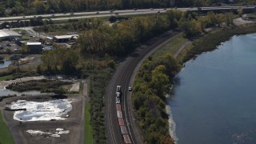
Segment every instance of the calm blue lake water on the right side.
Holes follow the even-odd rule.
[[[256,143],[256,34],[218,48],[177,75],[169,105],[178,144]]]

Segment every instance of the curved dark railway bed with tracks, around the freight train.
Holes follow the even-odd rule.
[[[138,70],[144,58],[147,58],[155,50],[169,42],[178,32],[169,31],[158,38],[154,38],[144,46],[138,47],[133,54],[130,54],[123,62],[120,63],[113,77],[110,79],[106,88],[106,133],[107,143],[123,143],[122,134],[118,126],[118,117],[115,110],[115,93],[116,86],[120,85],[122,90],[122,114],[125,124],[130,135],[130,140],[134,144],[143,143],[142,134],[136,126],[133,106],[131,104],[131,92],[128,87],[134,82],[134,74]]]

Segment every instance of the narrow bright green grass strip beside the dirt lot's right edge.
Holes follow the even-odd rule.
[[[86,144],[93,144],[93,128],[90,125],[90,102],[86,102],[85,106],[85,136],[84,136],[84,143]]]

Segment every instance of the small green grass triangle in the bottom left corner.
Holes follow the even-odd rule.
[[[2,120],[2,114],[0,112],[0,143],[1,144],[12,144],[14,139],[12,138],[6,123]]]

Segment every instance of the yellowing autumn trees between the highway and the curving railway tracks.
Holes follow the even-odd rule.
[[[190,11],[169,10],[166,14],[137,16],[116,22],[112,26],[106,25],[97,18],[74,22],[64,27],[82,30],[79,34],[78,45],[73,46],[72,50],[60,49],[44,52],[42,70],[72,74],[72,72],[77,72],[79,59],[87,57],[88,54],[103,58],[106,54],[111,57],[123,57],[130,54],[140,43],[166,30],[181,28],[186,37],[193,37],[201,34],[205,28],[210,26],[221,24],[228,26],[232,23],[232,18],[232,13],[214,14],[210,12],[205,17],[199,18],[197,14]],[[38,29],[48,30],[48,28],[42,26]],[[76,58],[74,55],[79,55],[79,57]]]

